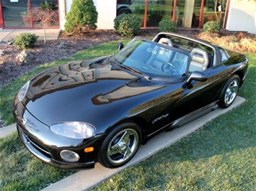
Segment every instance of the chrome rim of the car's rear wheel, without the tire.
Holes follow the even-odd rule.
[[[237,97],[238,90],[239,90],[239,81],[237,79],[234,79],[229,84],[229,87],[226,88],[226,93],[224,97],[224,102],[226,105],[229,105],[234,101],[234,99]]]

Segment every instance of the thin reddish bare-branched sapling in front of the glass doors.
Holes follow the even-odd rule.
[[[37,21],[40,24],[43,24],[43,36],[44,42],[46,42],[45,28],[50,23],[58,22],[58,11],[54,9],[42,9],[35,7],[32,11],[32,19],[33,21]]]

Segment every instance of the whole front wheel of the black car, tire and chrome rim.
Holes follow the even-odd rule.
[[[131,122],[120,124],[107,134],[100,146],[97,160],[108,168],[123,166],[133,158],[140,144],[140,127]]]

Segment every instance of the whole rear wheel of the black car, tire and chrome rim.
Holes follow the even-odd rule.
[[[237,93],[240,88],[240,78],[238,75],[232,75],[229,80],[227,80],[224,89],[221,91],[219,98],[219,106],[221,108],[228,108],[237,98]]]

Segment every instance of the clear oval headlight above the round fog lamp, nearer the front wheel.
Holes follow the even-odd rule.
[[[63,122],[53,124],[50,126],[50,130],[71,139],[87,139],[94,136],[96,128],[91,124],[82,122]]]

